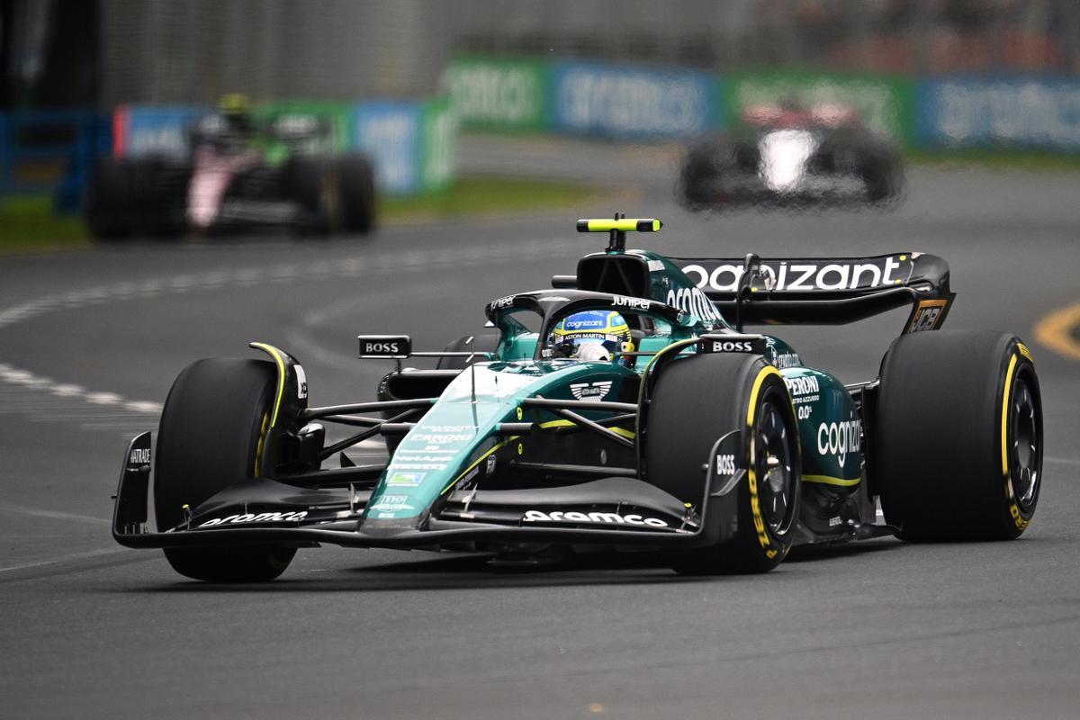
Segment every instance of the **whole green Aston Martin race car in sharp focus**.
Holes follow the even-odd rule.
[[[359,336],[365,362],[396,364],[376,400],[310,407],[300,363],[259,342],[268,359],[187,367],[153,457],[149,432],[126,450],[116,540],[164,548],[190,578],[265,581],[321,543],[649,549],[728,573],[771,570],[796,545],[1028,527],[1043,437],[1031,353],[940,329],[955,298],[941,258],[676,259],[625,248],[658,220],[578,229],[608,247],[551,289],[489,302],[488,327],[445,351]],[[743,327],[904,307],[880,375],[853,384]],[[438,366],[401,367],[410,357]],[[386,462],[349,457],[369,438]]]

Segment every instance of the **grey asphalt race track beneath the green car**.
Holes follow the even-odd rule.
[[[637,202],[370,239],[0,259],[0,717],[1080,715],[1080,365],[1032,329],[1080,299],[1080,176],[914,169],[893,210],[692,216],[656,153],[609,174],[605,158],[626,151],[476,145],[469,166],[556,153],[565,174],[613,177]],[[1048,438],[1027,533],[804,551],[768,575],[719,579],[636,556],[522,574],[327,547],[256,587],[188,582],[159,553],[113,544],[125,440],[156,430],[190,361],[265,340],[303,362],[313,404],[369,398],[387,368],[353,358],[357,332],[442,348],[481,326],[487,300],[572,272],[604,241],[573,220],[616,209],[662,218],[632,244],[675,256],[948,259],[949,327],[1015,331],[1035,353]],[[902,322],[784,335],[856,380]]]

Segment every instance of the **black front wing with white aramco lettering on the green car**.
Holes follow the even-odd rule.
[[[738,461],[730,467],[715,459],[740,458],[741,441],[739,431],[729,433],[716,441],[708,458],[702,459],[702,499],[690,507],[642,479],[607,477],[532,490],[457,490],[416,526],[405,527],[364,519],[363,510],[370,492],[350,490],[337,505],[315,502],[302,506],[296,504],[299,493],[285,484],[287,479],[256,479],[238,481],[204,503],[217,508],[243,507],[246,512],[248,501],[244,498],[251,499],[252,490],[262,487],[262,495],[257,498],[260,514],[240,516],[251,516],[254,521],[245,520],[241,527],[229,521],[207,522],[202,521],[203,514],[203,518],[177,528],[150,532],[147,500],[151,437],[147,432],[131,441],[124,458],[112,536],[126,547],[330,543],[347,547],[431,548],[468,542],[699,547],[734,534],[737,488],[746,470],[738,466]],[[719,472],[721,467],[724,472]],[[271,493],[275,488],[284,490],[278,493],[276,504],[267,502],[266,488]],[[268,508],[274,512],[262,512]],[[267,520],[260,522],[259,517]]]

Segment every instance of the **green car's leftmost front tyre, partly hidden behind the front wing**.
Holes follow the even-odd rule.
[[[173,383],[158,431],[153,505],[158,530],[245,477],[257,477],[257,459],[276,390],[276,371],[265,361],[210,358],[189,365]],[[166,548],[181,575],[211,582],[273,580],[295,547],[228,545]]]

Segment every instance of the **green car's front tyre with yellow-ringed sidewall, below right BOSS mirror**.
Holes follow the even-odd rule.
[[[792,400],[780,372],[760,357],[701,355],[663,368],[649,406],[645,462],[650,483],[698,505],[713,445],[743,430],[746,478],[735,535],[679,552],[684,574],[760,573],[787,555],[798,517],[800,465]]]

